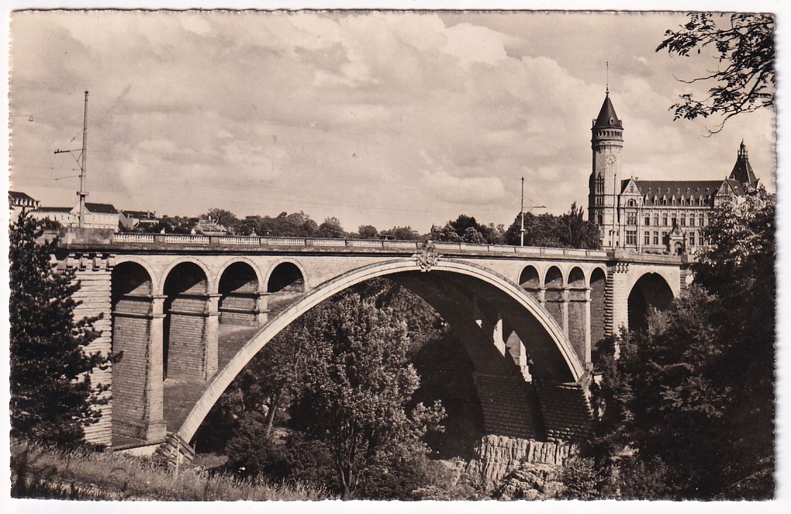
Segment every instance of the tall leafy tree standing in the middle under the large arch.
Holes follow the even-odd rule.
[[[391,467],[427,452],[421,438],[439,429],[441,404],[407,405],[419,378],[410,364],[407,326],[388,308],[357,296],[305,315],[313,358],[302,408],[311,437],[331,448],[344,498],[374,467]]]

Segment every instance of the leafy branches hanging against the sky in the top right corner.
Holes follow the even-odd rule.
[[[670,108],[674,119],[708,118],[721,115],[725,122],[742,112],[774,106],[774,15],[770,13],[690,13],[688,21],[677,30],[665,32],[666,39],[657,51],[669,54],[698,54],[706,47],[714,49],[720,66],[702,77],[682,80],[711,85],[709,96],[696,100],[691,93],[680,96],[681,102]]]

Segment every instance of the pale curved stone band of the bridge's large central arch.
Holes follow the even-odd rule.
[[[210,381],[206,390],[201,395],[190,414],[184,420],[177,434],[182,440],[191,440],[206,417],[209,410],[218,400],[225,388],[233,381],[234,377],[244,369],[244,366],[259,352],[278,332],[285,329],[299,316],[322,301],[340,293],[344,289],[365,282],[372,278],[392,274],[420,275],[425,271],[415,259],[394,259],[383,263],[376,263],[352,270],[330,281],[317,285],[300,300],[290,305],[277,317],[267,323],[239,352],[221,369]],[[569,339],[562,328],[552,316],[520,285],[509,281],[491,270],[482,266],[465,263],[455,259],[439,259],[433,263],[429,272],[432,280],[441,280],[447,277],[456,282],[466,281],[466,285],[476,284],[479,291],[485,291],[490,300],[508,300],[506,310],[511,319],[521,319],[521,323],[538,327],[534,344],[528,349],[539,368],[554,373],[557,381],[579,382],[585,374],[585,366],[577,357]],[[427,275],[423,275],[428,277]],[[408,282],[408,281],[407,281]],[[526,344],[528,344],[526,342]]]

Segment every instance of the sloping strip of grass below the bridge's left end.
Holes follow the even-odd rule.
[[[71,500],[313,501],[335,499],[305,484],[244,480],[112,452],[64,452],[11,440],[11,496]]]

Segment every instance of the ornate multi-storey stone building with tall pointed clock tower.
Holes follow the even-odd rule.
[[[623,178],[623,122],[610,95],[593,120],[588,216],[600,229],[602,248],[648,253],[694,253],[706,244],[702,228],[715,206],[756,187],[744,142],[724,180]]]

